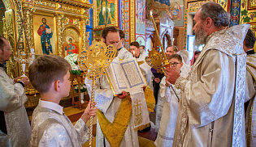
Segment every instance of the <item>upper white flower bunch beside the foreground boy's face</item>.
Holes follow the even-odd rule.
[[[77,74],[77,75],[81,75],[80,69],[77,66],[77,57],[78,54],[77,53],[73,53],[73,54],[69,54],[66,57],[64,57],[64,59],[66,59],[68,61],[68,63],[72,66],[72,74]]]

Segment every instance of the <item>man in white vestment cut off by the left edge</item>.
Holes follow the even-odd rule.
[[[11,79],[4,69],[9,61],[11,46],[0,37],[0,146],[24,147],[30,145],[30,124],[24,103],[28,100],[24,86],[28,78]]]

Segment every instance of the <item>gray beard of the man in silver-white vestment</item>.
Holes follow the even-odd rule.
[[[195,32],[195,40],[194,46],[198,48],[202,44],[206,44],[207,34],[203,30],[203,23],[201,23],[200,27],[198,27],[197,31]]]

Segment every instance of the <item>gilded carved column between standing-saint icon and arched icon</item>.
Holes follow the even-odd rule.
[[[60,14],[56,15],[57,18],[57,38],[58,38],[58,53],[57,55],[63,57],[63,16]]]

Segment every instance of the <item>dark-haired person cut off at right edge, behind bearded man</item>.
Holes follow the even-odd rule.
[[[247,146],[256,146],[256,53],[254,31],[248,30],[244,40],[246,57],[245,81],[245,131]]]

